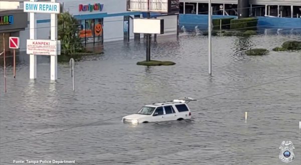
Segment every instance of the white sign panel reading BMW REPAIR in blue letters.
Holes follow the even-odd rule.
[[[24,1],[24,12],[60,13],[60,3]]]

